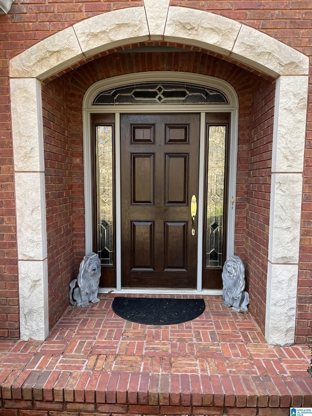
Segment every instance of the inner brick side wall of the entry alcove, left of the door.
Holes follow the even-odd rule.
[[[42,86],[50,328],[68,306],[74,277],[69,76]]]

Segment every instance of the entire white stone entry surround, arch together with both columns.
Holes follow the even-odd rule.
[[[145,0],[144,6],[83,20],[10,61],[21,338],[44,339],[49,331],[40,80],[94,54],[146,40],[201,47],[276,79],[266,338],[273,344],[290,344],[295,328],[295,308],[289,304],[296,304],[309,59],[249,26],[206,11],[172,7],[169,0]],[[291,139],[284,134],[286,127],[293,132]],[[292,241],[291,256],[287,241]]]

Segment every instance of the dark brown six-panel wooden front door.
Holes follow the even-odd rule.
[[[122,287],[196,287],[190,203],[198,200],[199,121],[121,115]]]

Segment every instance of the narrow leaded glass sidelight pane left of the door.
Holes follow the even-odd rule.
[[[102,266],[114,264],[113,129],[96,126],[98,257]]]

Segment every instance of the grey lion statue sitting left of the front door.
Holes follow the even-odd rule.
[[[88,306],[89,302],[99,302],[98,284],[100,276],[101,265],[98,255],[89,253],[84,256],[80,263],[77,279],[73,279],[69,283],[70,303],[76,306]]]

